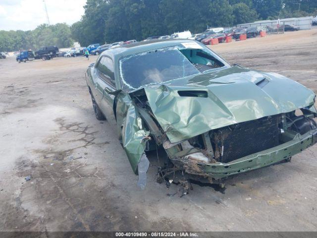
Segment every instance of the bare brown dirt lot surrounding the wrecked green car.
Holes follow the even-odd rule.
[[[317,91],[317,28],[212,46],[231,63],[280,72]],[[82,57],[0,60],[0,231],[317,231],[317,146],[173,194],[136,186],[114,128],[95,119]],[[31,175],[31,180],[25,178]]]

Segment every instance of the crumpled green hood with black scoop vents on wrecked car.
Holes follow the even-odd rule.
[[[203,97],[179,91],[206,91]],[[312,106],[315,94],[276,73],[233,66],[145,88],[169,140],[178,142],[238,122]]]

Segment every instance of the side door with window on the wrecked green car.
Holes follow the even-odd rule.
[[[116,90],[114,80],[113,61],[108,56],[101,56],[96,65],[97,81],[95,83],[96,92],[99,94],[97,104],[101,108],[108,122],[112,125],[116,123],[113,113],[115,96],[110,94]]]

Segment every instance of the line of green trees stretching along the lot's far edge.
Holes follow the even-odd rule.
[[[33,31],[0,31],[0,51],[71,47],[209,27],[234,26],[255,20],[317,14],[317,0],[87,0],[81,20],[40,25]]]

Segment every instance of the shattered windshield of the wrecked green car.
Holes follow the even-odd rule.
[[[119,60],[122,90],[133,91],[149,84],[184,78],[226,64],[197,43],[188,43],[196,44],[196,49],[188,49],[184,44],[142,52]]]

